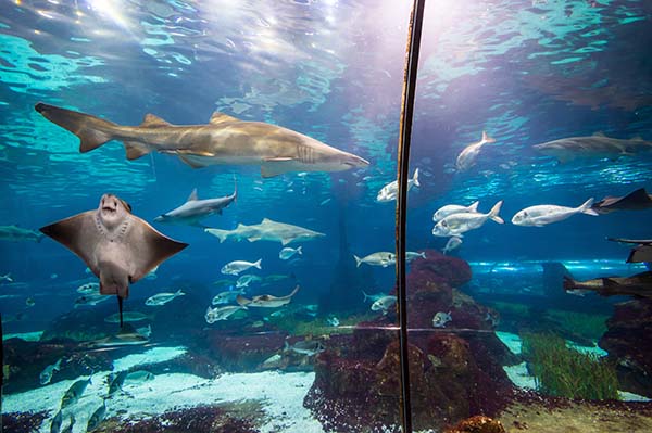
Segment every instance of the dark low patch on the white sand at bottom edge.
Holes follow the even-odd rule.
[[[145,420],[111,418],[96,433],[258,433],[255,411],[234,411],[224,406],[199,406],[168,411]]]

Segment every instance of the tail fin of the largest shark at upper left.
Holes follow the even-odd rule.
[[[118,125],[86,113],[60,109],[42,102],[34,105],[45,118],[79,137],[79,152],[92,151],[113,140],[113,131]]]

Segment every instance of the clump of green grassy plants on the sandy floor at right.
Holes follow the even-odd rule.
[[[523,354],[542,393],[567,398],[618,398],[613,362],[569,348],[564,339],[551,333],[524,333],[522,339]]]

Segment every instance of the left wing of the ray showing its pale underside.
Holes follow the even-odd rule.
[[[102,234],[95,224],[96,213],[97,211],[84,212],[41,227],[39,230],[65,245],[79,256],[96,276],[99,276],[100,270],[95,252],[102,241]]]

